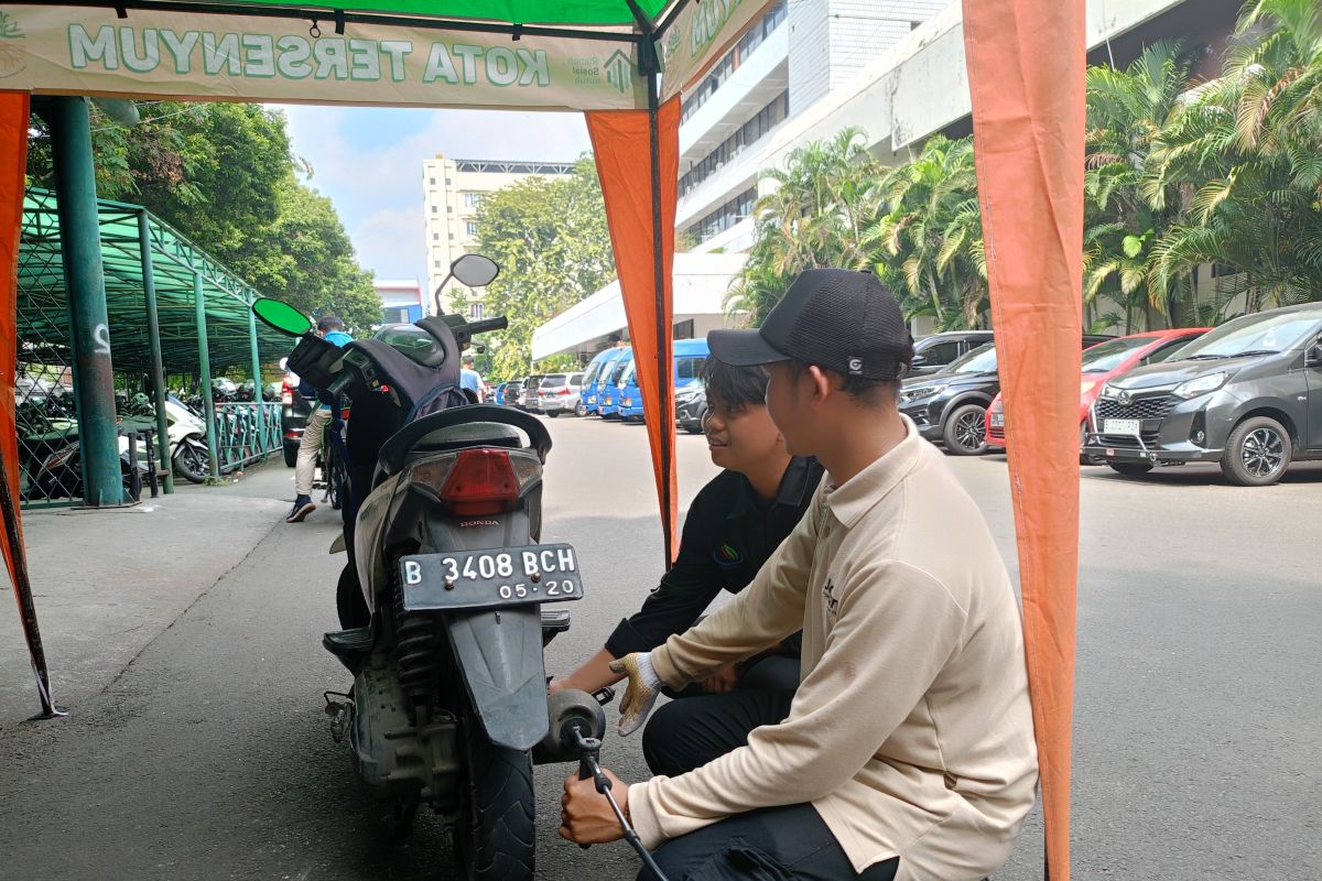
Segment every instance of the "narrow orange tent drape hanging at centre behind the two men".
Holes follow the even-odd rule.
[[[669,567],[678,552],[672,276],[680,99],[672,98],[648,111],[590,112],[587,128],[633,342]]]

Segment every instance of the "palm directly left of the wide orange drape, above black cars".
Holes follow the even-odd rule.
[[[873,264],[907,317],[977,328],[989,309],[973,139],[929,139],[880,180],[890,210],[867,231]]]

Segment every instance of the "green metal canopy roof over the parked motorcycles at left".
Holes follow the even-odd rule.
[[[260,295],[145,209],[107,199],[98,199],[97,207],[115,371],[151,371],[139,240],[143,214],[147,215],[165,372],[198,372],[194,273],[202,280],[213,374],[235,366],[250,367],[249,310]],[[19,341],[24,346],[20,359],[41,361],[44,353],[49,353],[50,361],[69,363],[69,300],[56,211],[54,193],[26,192],[19,246]],[[258,322],[258,347],[262,363],[271,363],[290,353],[292,341]]]

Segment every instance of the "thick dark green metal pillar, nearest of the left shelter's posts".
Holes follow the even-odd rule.
[[[86,98],[53,98],[46,104],[59,195],[59,240],[69,291],[69,343],[73,350],[82,452],[83,505],[122,505],[115,376],[110,361],[110,318],[97,217],[97,177]]]

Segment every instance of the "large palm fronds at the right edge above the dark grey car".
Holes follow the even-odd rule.
[[[1145,194],[1192,193],[1153,248],[1165,288],[1204,263],[1236,269],[1202,320],[1322,296],[1322,12],[1317,0],[1244,7],[1223,75],[1154,139]]]

